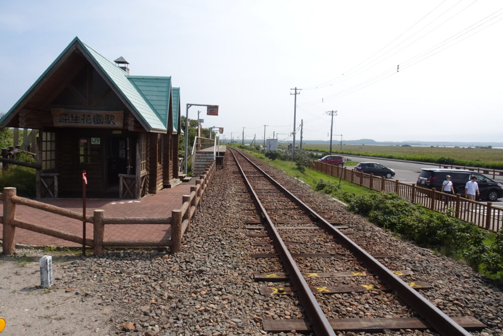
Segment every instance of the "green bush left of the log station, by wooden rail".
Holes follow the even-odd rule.
[[[16,187],[23,197],[35,197],[35,169],[9,165],[9,171],[0,173],[0,190]]]

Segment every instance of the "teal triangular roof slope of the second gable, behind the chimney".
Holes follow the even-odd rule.
[[[171,77],[127,76],[167,129]]]

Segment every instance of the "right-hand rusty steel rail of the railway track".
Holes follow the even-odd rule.
[[[423,295],[418,293],[412,287],[407,285],[403,280],[397,277],[393,272],[391,272],[386,266],[381,262],[376,260],[367,251],[361,248],[359,245],[355,244],[351,239],[349,239],[344,233],[336,229],[328,223],[324,218],[318,215],[314,210],[309,208],[294,194],[288,191],[279,182],[269,176],[264,170],[262,170],[255,163],[251,162],[246,156],[241,152],[241,154],[251,165],[253,165],[257,170],[262,172],[264,176],[269,179],[274,185],[281,189],[288,197],[290,197],[295,203],[302,207],[305,211],[308,211],[312,216],[318,220],[318,224],[329,234],[331,234],[341,245],[346,247],[350,252],[352,252],[357,259],[365,264],[374,274],[376,274],[382,282],[396,291],[398,297],[400,297],[409,307],[411,307],[415,312],[417,312],[429,325],[431,325],[437,332],[445,336],[470,336],[471,333],[466,331],[462,326],[456,323],[452,318],[447,316],[443,311],[438,309],[430,301],[428,301]]]

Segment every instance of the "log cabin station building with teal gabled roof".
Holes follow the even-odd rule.
[[[37,197],[140,198],[179,183],[180,88],[75,37],[0,120],[39,130]],[[50,192],[49,192],[50,191]]]

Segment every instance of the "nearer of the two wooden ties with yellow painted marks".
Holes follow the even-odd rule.
[[[433,286],[424,281],[412,281],[407,283],[411,288],[418,289],[432,289]],[[391,288],[384,284],[379,285],[371,285],[371,284],[363,284],[363,285],[339,285],[339,286],[309,286],[313,293],[318,294],[337,294],[337,293],[361,293],[366,291],[371,291],[374,289],[381,290],[383,292],[391,291]],[[282,294],[290,294],[293,292],[292,287],[261,287],[259,288],[259,292],[261,295],[282,295]]]

